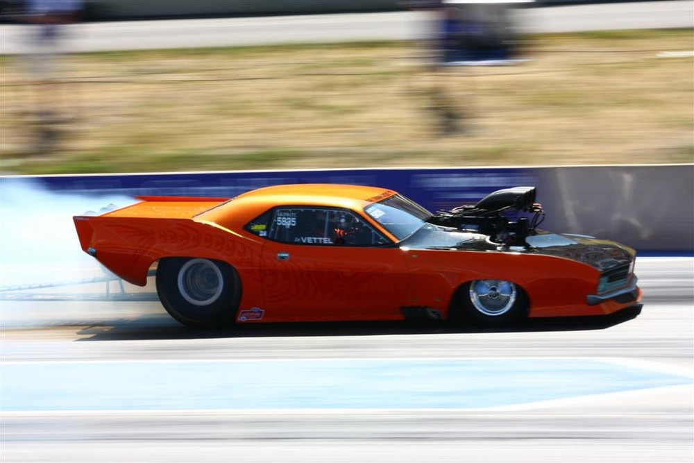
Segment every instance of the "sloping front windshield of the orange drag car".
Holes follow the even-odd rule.
[[[391,196],[364,209],[369,217],[402,241],[419,230],[432,217],[431,212],[405,196]]]

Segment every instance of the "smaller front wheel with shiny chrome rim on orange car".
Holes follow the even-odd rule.
[[[523,288],[505,280],[474,280],[458,290],[451,319],[509,324],[527,316],[530,304]]]

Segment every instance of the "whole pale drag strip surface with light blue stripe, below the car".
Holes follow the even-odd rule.
[[[691,462],[694,260],[637,271],[640,313],[508,330],[5,298],[0,461]]]

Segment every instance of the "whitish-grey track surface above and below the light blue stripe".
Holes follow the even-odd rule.
[[[96,328],[96,327],[95,327]],[[371,336],[284,335],[208,339],[141,339],[137,330],[87,337],[62,327],[57,338],[3,336],[3,355],[28,360],[310,359],[470,357],[544,360],[582,355],[634,369],[691,376],[692,311],[652,305],[607,329],[538,332],[461,332]],[[113,328],[118,331],[119,328]],[[7,334],[7,332],[5,333]],[[141,332],[139,333],[142,334]],[[169,333],[170,334],[170,333]],[[84,339],[72,342],[71,339]],[[12,341],[14,339],[14,341]],[[68,342],[66,342],[68,340]],[[10,347],[8,349],[8,346]],[[96,370],[91,372],[96,375]],[[276,378],[281,389],[288,378]],[[176,376],[162,378],[176,381]],[[232,380],[233,378],[230,378]],[[422,380],[423,378],[413,378]],[[513,378],[503,386],[513,389]],[[75,390],[92,381],[87,365]],[[470,378],[473,387],[474,378]],[[244,378],[232,382],[244,387]],[[407,382],[407,381],[405,381]],[[489,387],[489,384],[484,383]],[[480,384],[481,385],[481,384]],[[497,385],[498,386],[498,385]],[[162,387],[183,405],[193,396]],[[309,387],[310,389],[310,387]],[[574,396],[502,410],[112,410],[5,412],[3,461],[8,462],[689,462],[692,387],[645,388]],[[99,391],[96,391],[98,394]],[[203,390],[201,389],[201,393]],[[169,395],[171,394],[171,395]],[[208,399],[210,399],[208,397]],[[102,400],[108,401],[104,395]],[[220,404],[221,405],[221,404]]]

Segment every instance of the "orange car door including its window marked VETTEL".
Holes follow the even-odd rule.
[[[266,319],[399,319],[403,252],[356,212],[273,210],[261,257]]]

